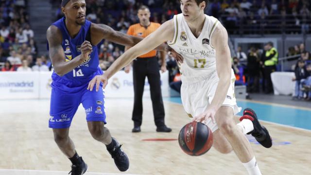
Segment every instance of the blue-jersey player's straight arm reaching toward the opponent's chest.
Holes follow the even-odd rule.
[[[140,42],[143,38],[138,36],[132,36],[123,34],[122,32],[115,31],[111,27],[104,24],[94,24],[91,26],[91,34],[92,34],[92,43],[93,45],[97,45],[101,40],[107,39],[111,42],[121,44],[123,46],[135,46],[138,42]],[[155,48],[157,51],[164,51],[165,44],[160,43]]]

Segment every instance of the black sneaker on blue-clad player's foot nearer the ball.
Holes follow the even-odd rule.
[[[124,172],[130,166],[127,155],[121,149],[121,146],[115,138],[112,138],[114,142],[114,147],[111,150],[108,150],[111,157],[114,159],[116,166],[121,172]]]

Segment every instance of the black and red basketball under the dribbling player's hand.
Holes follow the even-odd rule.
[[[213,134],[206,124],[191,122],[181,128],[178,135],[178,143],[186,154],[201,156],[211,148]]]

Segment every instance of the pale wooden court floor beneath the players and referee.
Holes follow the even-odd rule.
[[[48,128],[49,100],[0,101],[0,175],[66,175],[70,162],[58,149]],[[132,99],[106,99],[106,127],[130,158],[123,174],[135,175],[247,175],[232,152],[222,155],[215,149],[200,157],[184,154],[174,141],[180,128],[189,122],[182,105],[164,102],[166,123],[172,133],[155,132],[151,100],[144,99],[141,133],[132,133]],[[264,123],[264,122],[263,122]],[[251,145],[263,175],[310,175],[311,131],[264,123],[274,139],[266,149],[252,137]],[[87,130],[85,112],[79,107],[70,137],[88,164],[86,175],[121,174],[104,145]],[[24,171],[34,170],[34,171]],[[40,170],[40,171],[39,171]]]

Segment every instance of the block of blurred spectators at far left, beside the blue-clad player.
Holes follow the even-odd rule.
[[[1,71],[49,71],[51,62],[38,56],[29,25],[27,0],[0,0]]]

